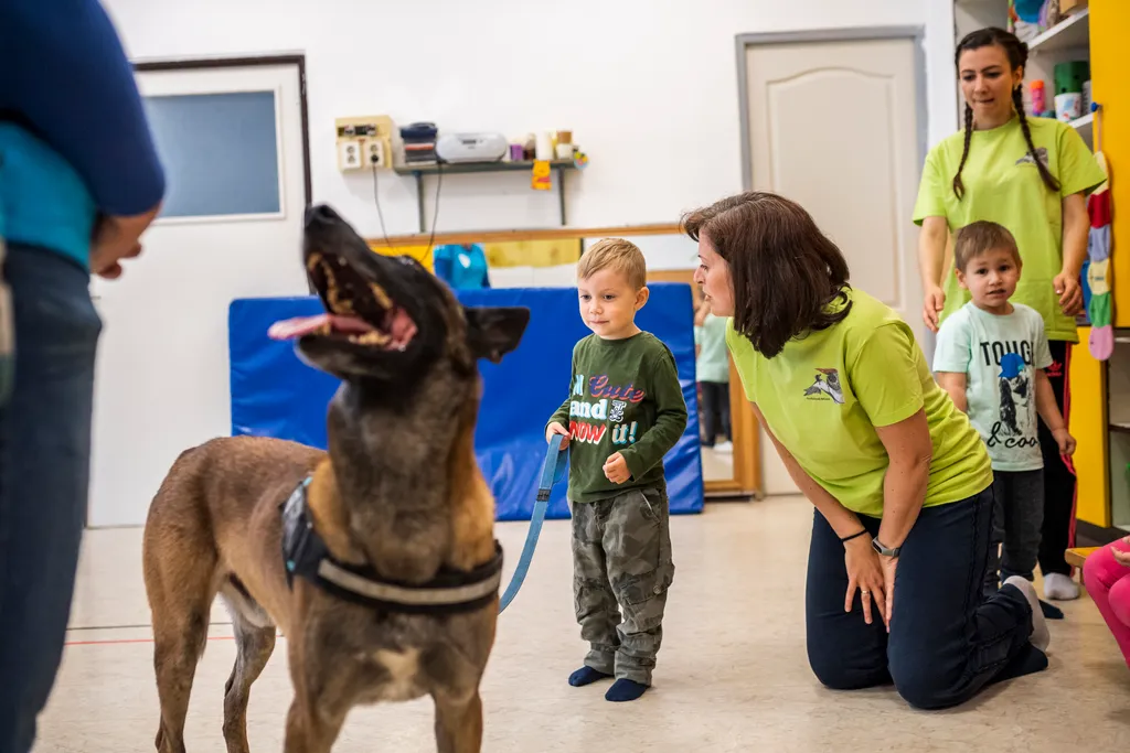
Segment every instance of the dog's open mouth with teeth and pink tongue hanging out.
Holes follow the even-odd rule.
[[[325,313],[276,322],[268,331],[273,340],[314,335],[402,351],[416,336],[416,323],[408,312],[344,257],[311,254],[306,269]]]

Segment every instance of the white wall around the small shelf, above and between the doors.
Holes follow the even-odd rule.
[[[314,199],[368,236],[381,233],[372,177],[337,170],[334,117],[508,137],[570,129],[591,158],[570,176],[574,226],[675,221],[740,190],[741,33],[925,26],[930,142],[956,124],[949,0],[104,2],[136,60],[304,52]],[[380,191],[388,233],[416,231],[414,181],[382,172]],[[429,178],[429,224],[434,191]],[[441,231],[557,221],[556,193],[523,175],[444,178]]]

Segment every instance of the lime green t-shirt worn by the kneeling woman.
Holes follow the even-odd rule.
[[[847,316],[796,338],[774,358],[727,327],[746,396],[800,466],[861,515],[883,516],[889,465],[875,427],[925,409],[933,443],[925,506],[973,497],[992,483],[981,436],[933,380],[910,326],[886,305],[850,291]]]

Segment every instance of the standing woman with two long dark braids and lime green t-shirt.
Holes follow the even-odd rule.
[[[1086,195],[1105,180],[1079,134],[1067,123],[1024,113],[1028,47],[999,28],[965,36],[955,54],[965,98],[965,129],[930,150],[914,222],[922,226],[919,263],[925,301],[922,317],[938,331],[942,318],[968,301],[946,259],[950,233],[992,220],[1016,237],[1024,274],[1012,297],[1040,312],[1051,345],[1048,376],[1067,417],[1075,315],[1083,310],[1079,273],[1087,259]],[[1079,588],[1063,559],[1075,515],[1075,474],[1041,422],[1044,522],[1040,569],[1048,598],[1070,599]]]

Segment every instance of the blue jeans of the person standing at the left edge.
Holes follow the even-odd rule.
[[[0,408],[0,751],[27,753],[62,657],[90,464],[102,322],[89,274],[9,245],[15,384]]]

